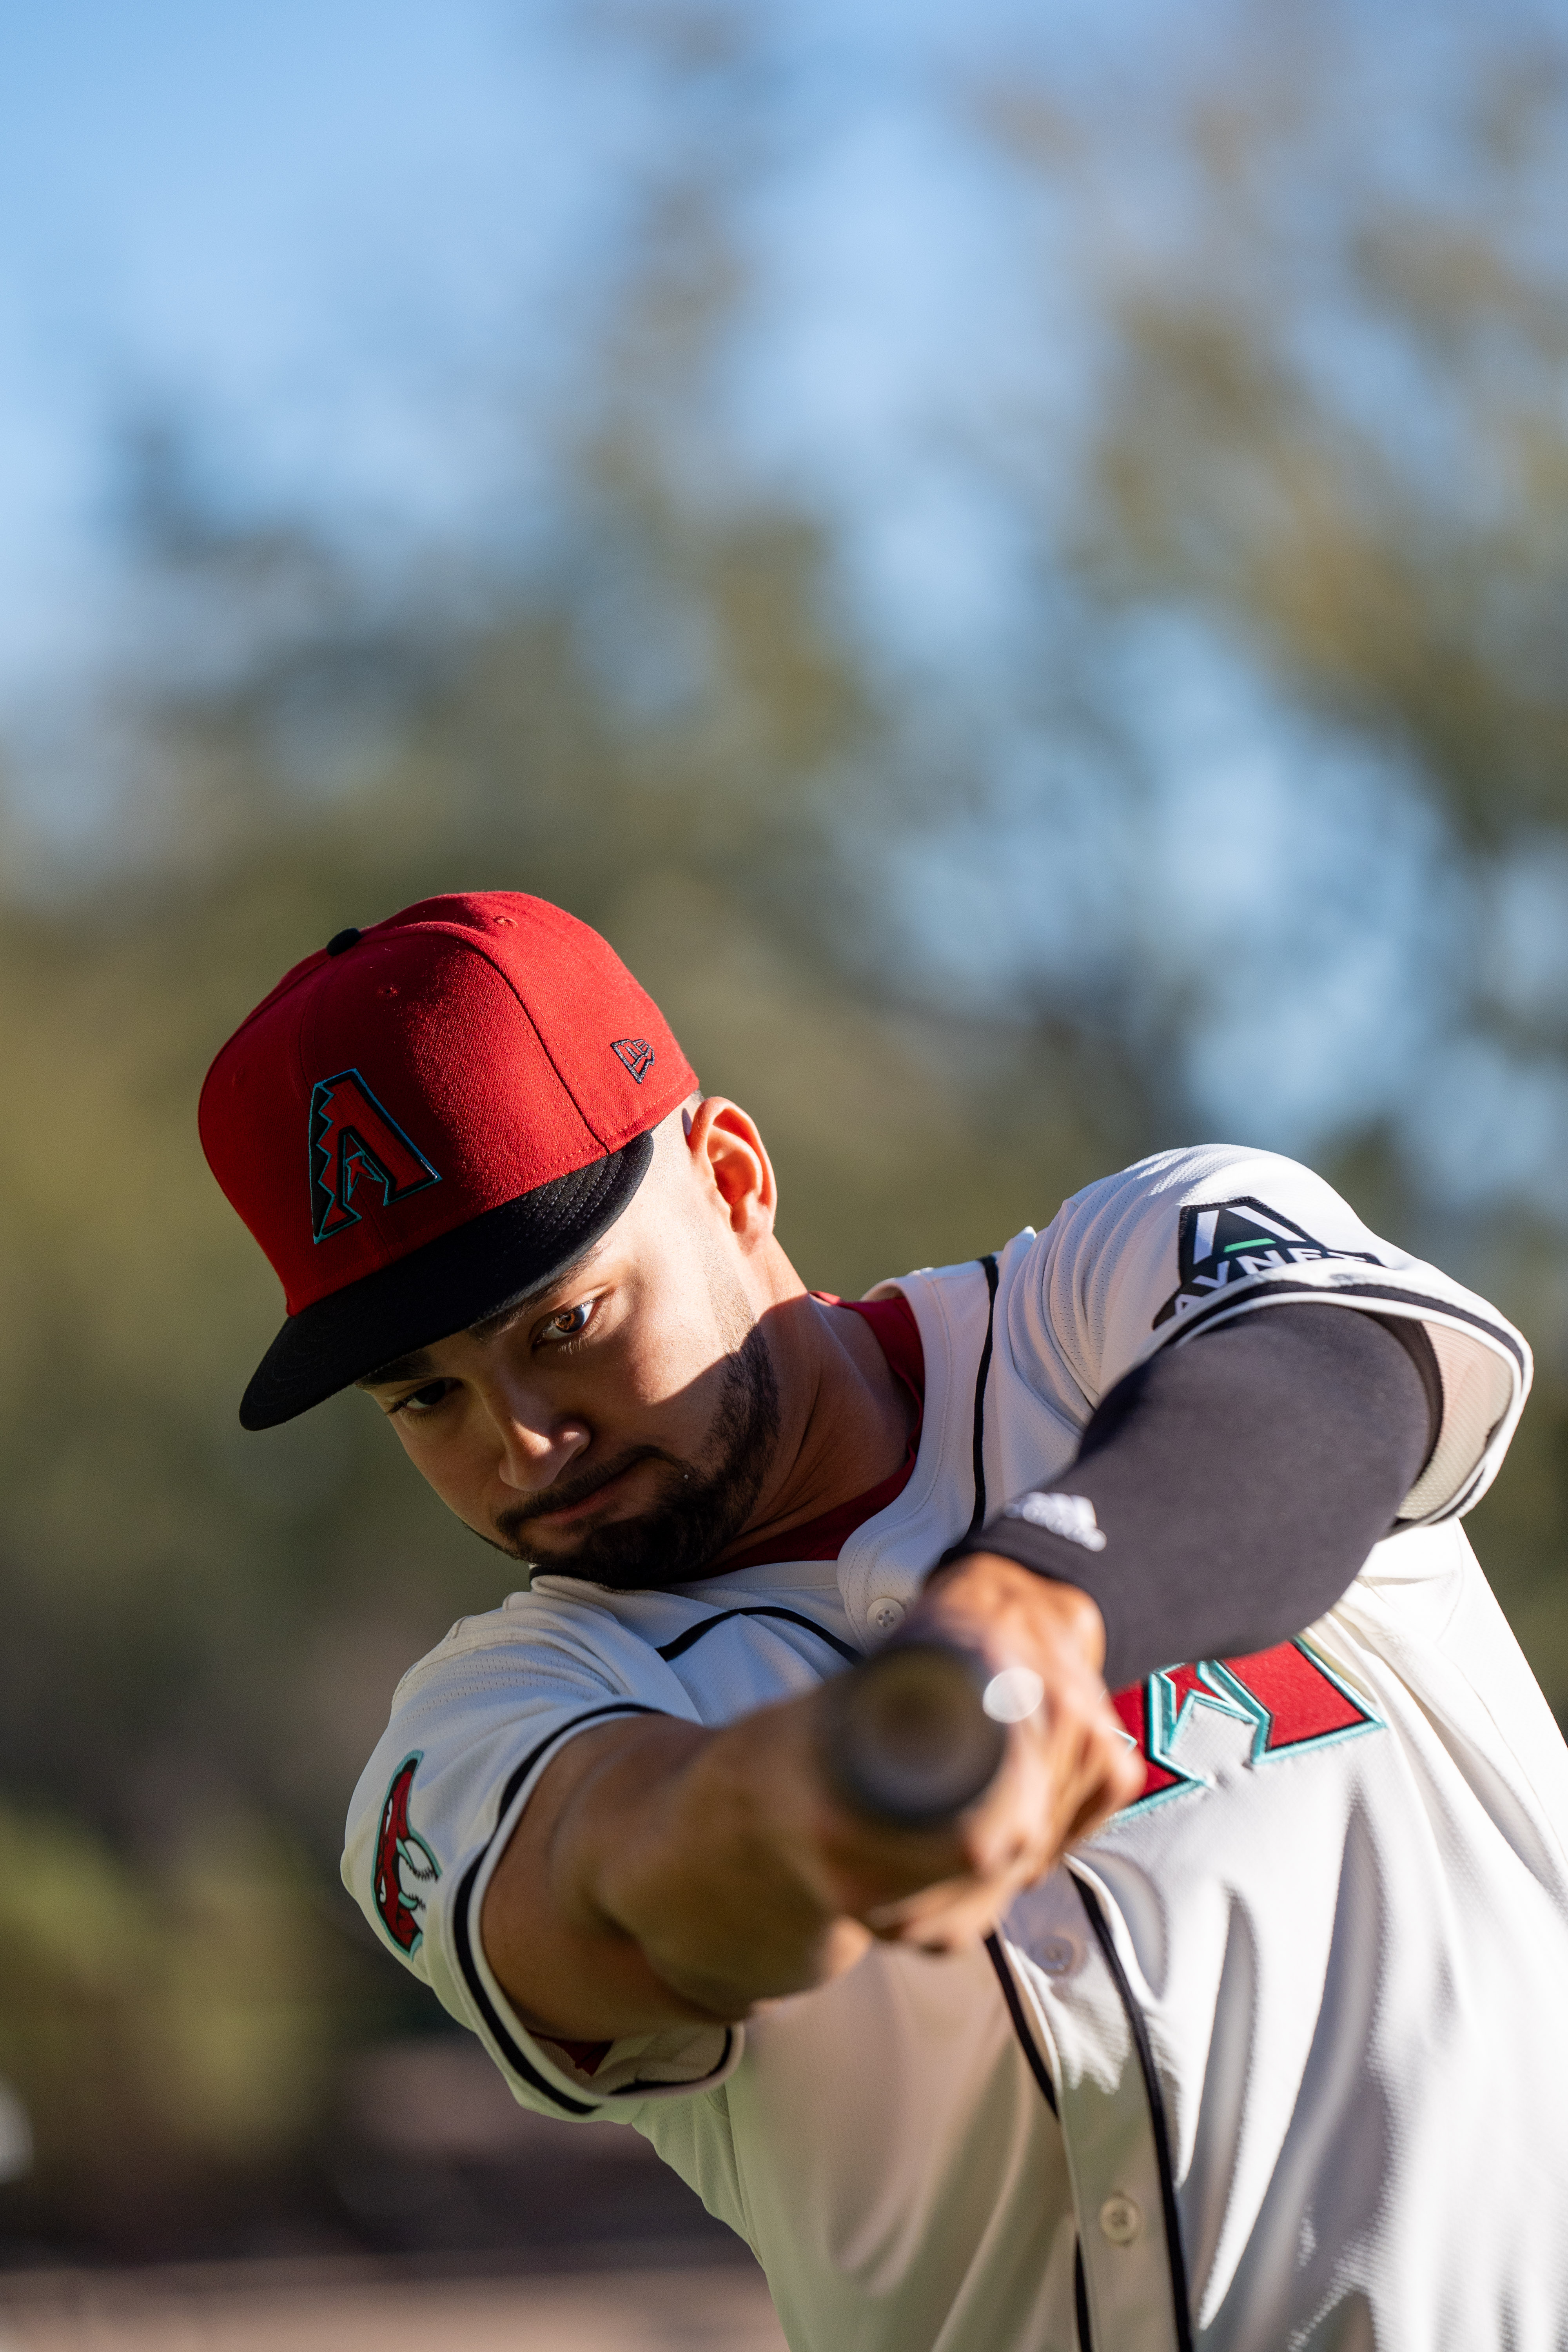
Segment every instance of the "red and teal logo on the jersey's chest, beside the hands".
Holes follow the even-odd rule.
[[[1382,1731],[1380,1717],[1305,1642],[1281,1642],[1251,1658],[1168,1665],[1147,1682],[1135,1682],[1131,1691],[1117,1691],[1112,1705],[1147,1766],[1143,1797],[1126,1811],[1178,1797],[1187,1788],[1213,1788],[1192,1755],[1180,1762],[1199,1710],[1246,1724],[1248,1766],[1293,1755],[1298,1748],[1347,1740],[1359,1731]]]

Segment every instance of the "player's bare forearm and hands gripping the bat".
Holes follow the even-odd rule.
[[[520,2013],[571,2039],[743,2018],[842,1973],[867,1940],[945,1952],[1143,1785],[1074,1585],[994,1555],[940,1571],[907,1621],[1039,1675],[985,1797],[938,1830],[858,1818],[820,1766],[820,1696],[722,1731],[604,1724],[557,1757],[489,1893],[482,1938]]]

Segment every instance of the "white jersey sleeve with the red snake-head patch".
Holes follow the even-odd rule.
[[[696,1722],[658,1653],[609,1611],[569,1621],[522,1592],[456,1625],[404,1675],[348,1811],[343,1884],[376,1940],[541,2114],[630,2117],[644,2100],[715,2089],[741,2058],[743,2032],[724,2025],[607,2049],[545,2039],[517,2018],[484,1957],[484,1891],[543,1771],[578,1731],[630,1715]]]

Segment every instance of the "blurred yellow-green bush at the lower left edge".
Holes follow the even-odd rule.
[[[0,2070],[35,2129],[12,2225],[63,2211],[134,2251],[294,2154],[346,1971],[275,1832],[212,1820],[134,1865],[68,1818],[7,1811],[0,1886]]]

